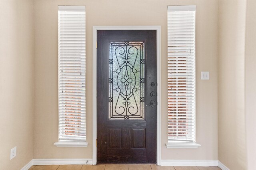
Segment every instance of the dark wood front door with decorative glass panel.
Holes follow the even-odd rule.
[[[156,30],[97,31],[97,163],[156,163]]]

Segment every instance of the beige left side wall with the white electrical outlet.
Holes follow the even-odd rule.
[[[33,158],[34,19],[32,1],[1,1],[1,170]],[[10,149],[17,156],[10,160]]]

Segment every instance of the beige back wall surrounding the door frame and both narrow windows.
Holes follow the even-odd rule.
[[[196,149],[167,149],[167,6],[197,5]],[[87,148],[60,148],[58,141],[58,5],[86,6]],[[162,159],[218,160],[217,1],[35,1],[34,158],[92,158],[92,26],[160,25],[162,54]],[[210,71],[210,80],[200,80]]]

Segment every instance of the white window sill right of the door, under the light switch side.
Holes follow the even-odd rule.
[[[168,141],[168,143],[165,144],[166,148],[198,148],[198,146],[201,146],[200,144],[194,142],[194,141]]]

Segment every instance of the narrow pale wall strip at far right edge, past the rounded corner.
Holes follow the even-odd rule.
[[[256,169],[256,1],[247,1],[245,40],[245,113],[247,168]]]

